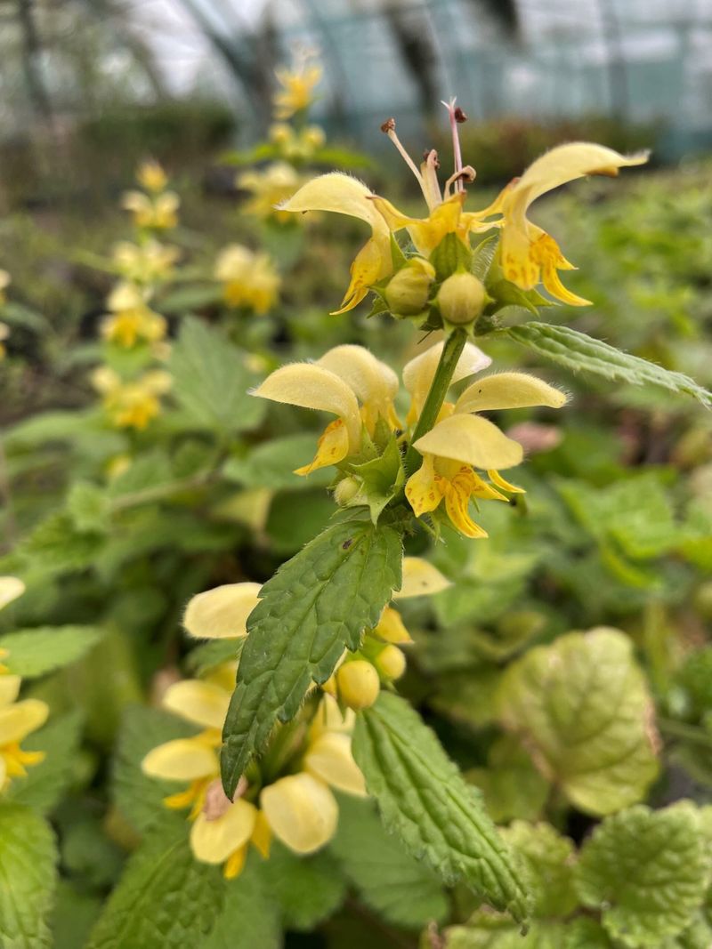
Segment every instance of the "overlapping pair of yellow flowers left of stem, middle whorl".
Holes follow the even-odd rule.
[[[309,474],[335,465],[361,450],[362,425],[372,433],[378,419],[398,427],[393,398],[398,377],[363,346],[330,349],[317,363],[283,365],[262,382],[254,396],[330,412],[337,419],[319,438],[309,465],[294,474]],[[359,405],[361,401],[361,405]]]

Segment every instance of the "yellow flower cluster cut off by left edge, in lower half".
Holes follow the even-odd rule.
[[[24,592],[25,585],[17,577],[0,577],[0,609]],[[0,649],[0,660],[7,657],[7,650]],[[26,752],[21,747],[28,735],[42,728],[49,714],[47,703],[39,698],[18,700],[21,685],[22,679],[0,662],[0,791],[45,757],[44,752]]]

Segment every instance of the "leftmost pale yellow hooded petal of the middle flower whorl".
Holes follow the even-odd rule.
[[[276,369],[253,390],[254,396],[331,412],[344,420],[352,449],[361,443],[359,403],[351,387],[322,365],[292,363]]]

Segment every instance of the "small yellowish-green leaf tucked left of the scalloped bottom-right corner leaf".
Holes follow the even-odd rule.
[[[502,836],[523,861],[533,894],[533,915],[568,916],[578,905],[573,886],[574,848],[549,824],[514,821]]]

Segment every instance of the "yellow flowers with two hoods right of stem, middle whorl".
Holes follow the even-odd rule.
[[[534,376],[505,372],[473,382],[454,405],[445,403],[440,421],[413,443],[422,455],[422,466],[408,478],[405,496],[416,516],[435,511],[444,499],[447,515],[460,533],[486,537],[469,515],[470,499],[506,501],[502,491],[520,492],[498,472],[519,464],[523,451],[491,421],[474,413],[534,405],[561,408],[566,399]],[[492,483],[484,481],[476,468],[486,471]]]

